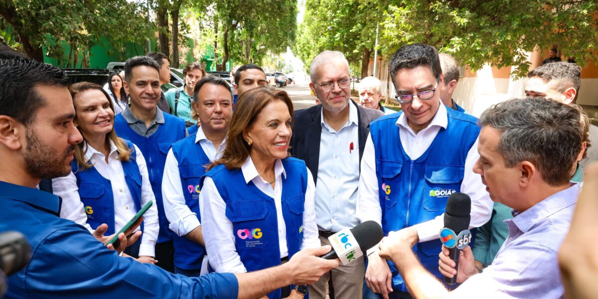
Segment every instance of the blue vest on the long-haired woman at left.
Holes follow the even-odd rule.
[[[135,147],[129,141],[127,146],[133,149],[129,161],[121,161],[124,170],[124,181],[129,187],[133,202],[135,203],[135,211],[139,212],[141,209],[141,173],[137,166]],[[112,184],[110,179],[104,178],[97,172],[96,167],[91,166],[85,170],[74,159],[71,162],[71,170],[77,178],[77,187],[79,188],[79,197],[85,213],[87,215],[87,224],[94,230],[102,223],[108,224],[108,230],[105,235],[114,234],[114,194],[112,193]],[[123,179],[123,178],[111,178]],[[143,231],[143,223],[141,230]]]

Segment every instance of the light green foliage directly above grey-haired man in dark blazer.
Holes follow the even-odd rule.
[[[376,25],[382,22],[385,8],[385,1],[307,0],[292,50],[306,68],[321,51],[340,51],[350,63],[361,65],[361,74],[366,76],[374,52]]]

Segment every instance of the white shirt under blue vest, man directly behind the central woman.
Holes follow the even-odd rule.
[[[210,161],[218,159],[222,155],[222,151],[226,147],[225,142],[216,148],[212,141],[206,138],[200,126],[197,130],[195,143],[199,142],[200,146],[205,152]],[[199,183],[199,182],[198,182]],[[181,185],[181,175],[179,173],[179,161],[176,160],[172,152],[172,148],[168,151],[166,156],[166,164],[164,164],[164,177],[162,179],[162,200],[164,204],[164,213],[170,222],[168,228],[174,231],[179,237],[185,236],[201,224],[197,218],[197,214],[191,212],[187,203],[185,203],[185,195],[183,194]]]

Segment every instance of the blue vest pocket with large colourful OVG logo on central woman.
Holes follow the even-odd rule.
[[[225,215],[233,222],[233,234],[239,249],[261,249],[278,238],[276,216],[267,219],[268,204],[262,201],[229,202]]]

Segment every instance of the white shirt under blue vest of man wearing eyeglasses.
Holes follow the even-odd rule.
[[[438,108],[436,115],[432,118],[431,123],[425,129],[417,134],[413,132],[411,127],[407,124],[407,117],[401,114],[396,121],[396,126],[399,128],[399,136],[401,138],[401,145],[405,153],[416,160],[424,152],[428,150],[432,141],[440,131],[440,128],[445,128],[448,125],[446,106],[442,103]],[[473,172],[473,167],[480,154],[478,154],[478,140],[469,149],[465,158],[465,173],[463,173],[463,181],[461,182],[460,192],[471,197],[471,222],[469,227],[480,227],[485,224],[492,215],[492,200],[490,194],[486,192],[486,187],[482,184],[481,176]],[[452,154],[447,152],[447,154]],[[422,178],[423,179],[423,178]],[[364,222],[373,220],[382,224],[382,208],[380,208],[378,179],[376,176],[376,152],[371,135],[368,136],[365,142],[364,155],[361,159],[361,177],[359,178],[359,199],[357,204],[357,217],[359,221]],[[437,239],[440,236],[440,230],[444,227],[444,213],[420,224],[413,225],[417,230],[419,242],[426,242]],[[370,254],[377,251],[378,246],[374,246],[368,251]]]

